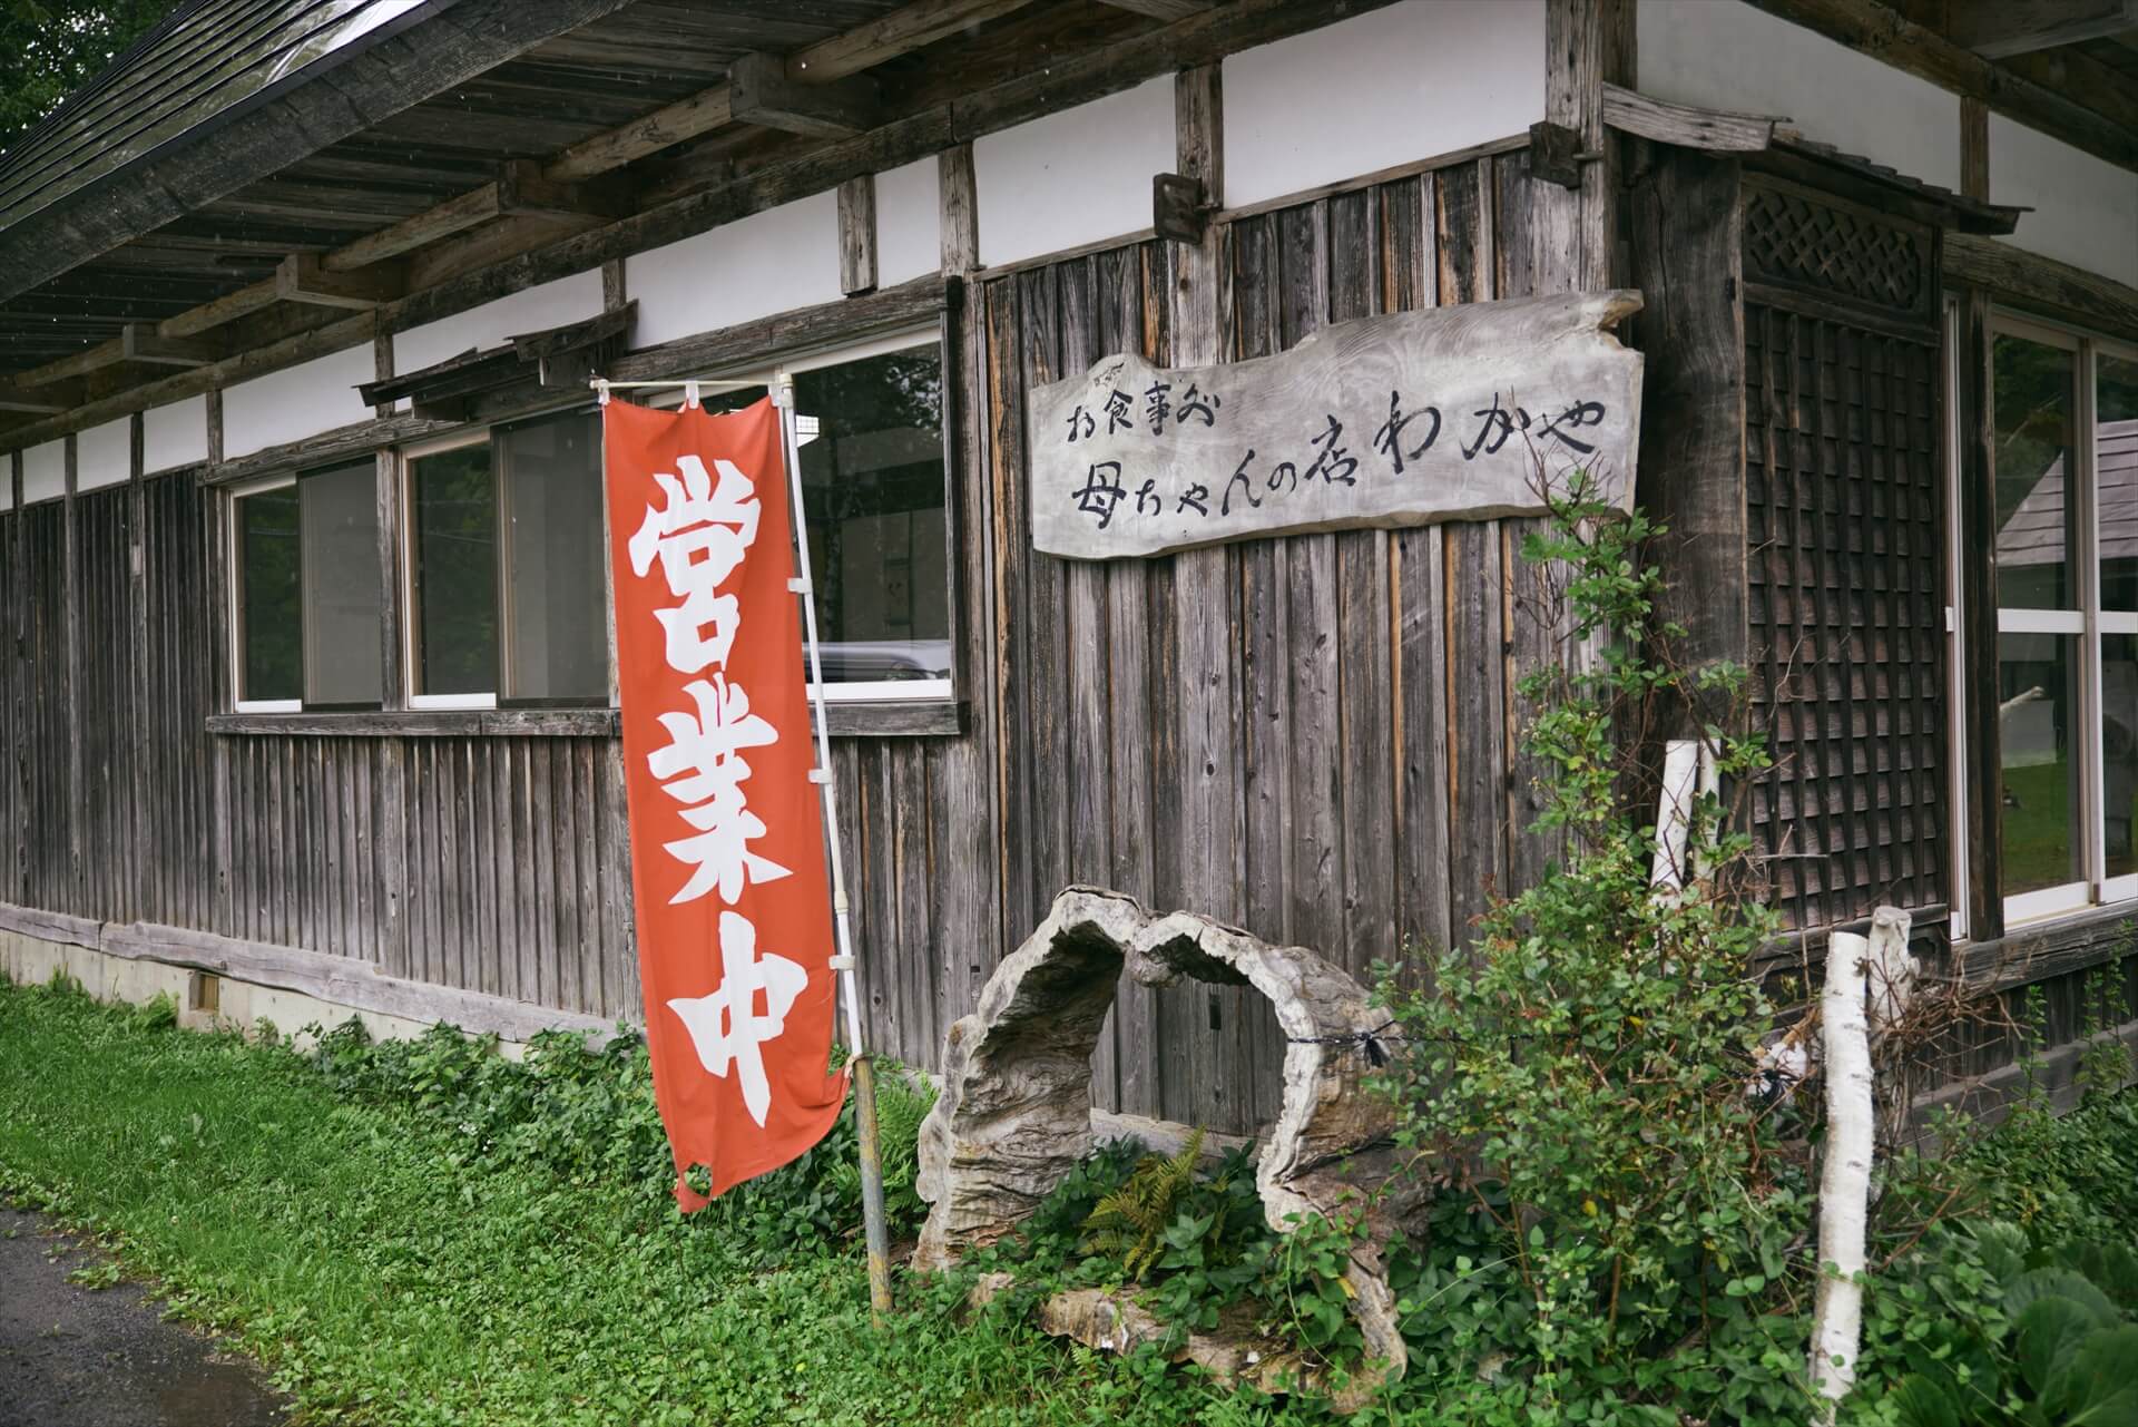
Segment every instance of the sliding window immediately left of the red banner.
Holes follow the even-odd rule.
[[[603,558],[592,413],[410,451],[410,704],[605,702]]]

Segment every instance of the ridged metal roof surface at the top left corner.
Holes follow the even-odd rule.
[[[0,229],[451,0],[195,0],[0,156]]]

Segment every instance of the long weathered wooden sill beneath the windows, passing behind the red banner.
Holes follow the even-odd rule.
[[[883,700],[823,706],[834,738],[958,736],[960,700]],[[207,717],[210,734],[297,734],[319,738],[616,738],[614,708],[408,708],[355,712],[227,712]]]

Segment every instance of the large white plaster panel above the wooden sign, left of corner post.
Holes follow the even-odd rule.
[[[1319,188],[1541,118],[1544,0],[1403,0],[1225,60],[1223,199]]]

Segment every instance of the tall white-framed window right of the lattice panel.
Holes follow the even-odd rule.
[[[1990,338],[2008,922],[2138,896],[2138,355]]]

